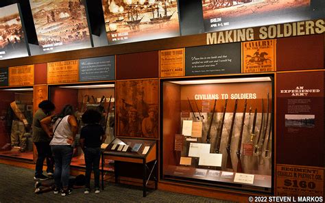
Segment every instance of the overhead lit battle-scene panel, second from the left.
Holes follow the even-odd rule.
[[[91,47],[84,1],[29,0],[43,53]]]

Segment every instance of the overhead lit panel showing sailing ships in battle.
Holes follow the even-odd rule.
[[[102,0],[109,44],[180,35],[176,0]]]

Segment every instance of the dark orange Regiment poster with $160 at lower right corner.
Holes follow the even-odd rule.
[[[276,195],[322,197],[324,167],[276,165]]]

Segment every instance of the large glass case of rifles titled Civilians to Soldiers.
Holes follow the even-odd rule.
[[[164,180],[272,193],[273,75],[165,79]]]

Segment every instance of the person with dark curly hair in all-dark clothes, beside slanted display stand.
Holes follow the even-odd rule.
[[[91,170],[94,170],[95,193],[99,193],[99,160],[101,155],[100,146],[106,139],[105,131],[99,124],[101,113],[95,109],[88,109],[82,115],[82,122],[86,124],[80,132],[80,146],[84,151],[86,162],[86,188],[84,193],[91,191]]]

